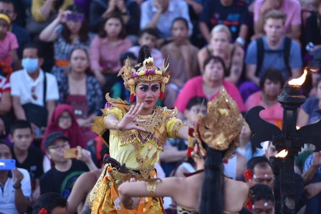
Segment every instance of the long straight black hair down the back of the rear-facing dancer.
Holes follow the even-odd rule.
[[[224,168],[222,159],[225,151],[219,151],[207,147],[204,164],[204,182],[202,186],[202,201],[200,213],[202,214],[223,214],[224,212]]]

